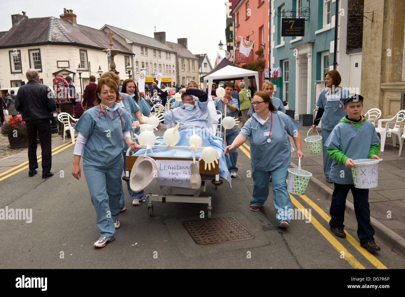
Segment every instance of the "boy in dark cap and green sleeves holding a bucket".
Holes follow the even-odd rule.
[[[329,177],[335,183],[330,204],[329,225],[336,236],[346,236],[343,221],[347,193],[351,190],[360,245],[368,251],[375,252],[379,251],[380,247],[374,242],[374,229],[370,223],[369,189],[355,187],[351,173],[353,160],[379,159],[377,155],[380,140],[375,127],[361,115],[363,99],[358,94],[350,94],[348,98],[343,98],[343,110],[347,112],[347,116],[333,128],[325,142],[326,150],[333,159]]]

